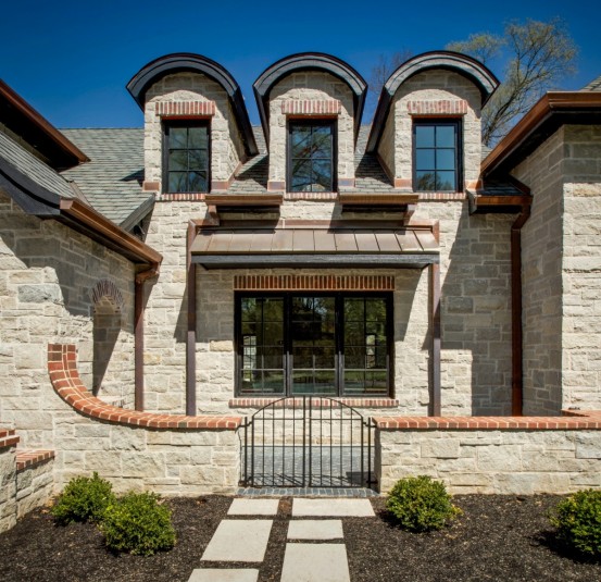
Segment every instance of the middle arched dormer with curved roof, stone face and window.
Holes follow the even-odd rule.
[[[354,185],[366,88],[352,66],[320,52],[286,57],[259,76],[253,89],[270,151],[270,190],[334,191]],[[322,147],[318,169],[295,147],[304,139],[301,134],[313,149]]]

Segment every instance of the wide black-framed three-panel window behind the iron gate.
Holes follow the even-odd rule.
[[[236,297],[240,395],[388,395],[390,294]]]

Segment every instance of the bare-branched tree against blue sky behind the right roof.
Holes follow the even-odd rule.
[[[502,37],[490,33],[472,35],[446,47],[487,64],[506,60],[504,78],[483,110],[483,141],[499,141],[540,99],[575,73],[577,48],[563,21],[510,22]]]

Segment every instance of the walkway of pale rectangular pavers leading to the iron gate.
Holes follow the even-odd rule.
[[[278,507],[279,499],[234,499],[227,518],[217,527],[201,561],[262,562],[273,520],[237,517],[276,516]],[[280,582],[350,582],[342,521],[304,518],[374,515],[368,499],[293,498]],[[188,582],[256,582],[258,578],[256,568],[199,568]]]

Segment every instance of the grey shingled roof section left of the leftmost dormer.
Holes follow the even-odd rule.
[[[75,182],[89,203],[117,224],[129,228],[150,208],[153,195],[145,193],[143,129],[61,129],[89,162],[65,170],[62,175]]]

